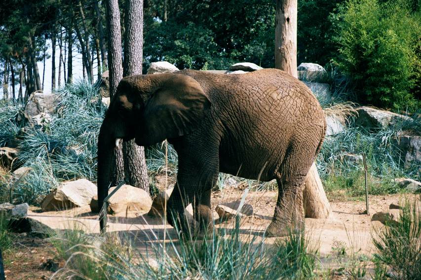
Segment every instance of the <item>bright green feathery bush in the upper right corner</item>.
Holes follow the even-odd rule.
[[[414,104],[420,69],[421,21],[403,0],[348,0],[339,22],[337,62],[361,92],[383,108]]]

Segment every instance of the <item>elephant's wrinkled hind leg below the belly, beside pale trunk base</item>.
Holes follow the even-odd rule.
[[[268,236],[286,236],[295,227],[304,224],[303,190],[304,183],[297,185],[278,182],[278,199],[272,222],[266,232]]]

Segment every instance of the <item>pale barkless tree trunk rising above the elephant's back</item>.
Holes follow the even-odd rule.
[[[297,72],[297,0],[276,0],[275,68]]]

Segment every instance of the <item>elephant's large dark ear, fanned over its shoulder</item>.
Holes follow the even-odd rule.
[[[138,114],[136,144],[149,146],[196,129],[211,106],[199,83],[181,74],[148,76],[151,83],[143,96],[144,110]]]

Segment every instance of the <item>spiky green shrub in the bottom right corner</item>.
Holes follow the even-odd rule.
[[[421,213],[417,200],[405,201],[398,222],[386,221],[373,244],[376,259],[390,267],[398,279],[417,280],[421,275]],[[378,268],[382,274],[382,268]]]

